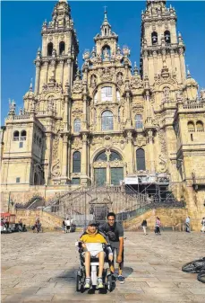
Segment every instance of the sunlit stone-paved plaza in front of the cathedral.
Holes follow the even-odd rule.
[[[107,294],[77,293],[80,233],[2,235],[3,302],[205,302],[205,284],[181,271],[205,255],[205,234],[125,233],[125,283]]]

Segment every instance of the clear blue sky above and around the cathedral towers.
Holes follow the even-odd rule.
[[[140,63],[141,10],[145,1],[70,1],[74,27],[80,41],[79,65],[82,52],[92,49],[93,37],[103,21],[104,5],[107,5],[108,21],[119,35],[119,44],[131,49],[131,60]],[[17,111],[23,105],[22,96],[29,90],[30,78],[35,78],[33,60],[41,46],[41,26],[51,20],[56,1],[3,1],[1,15],[1,64],[2,64],[2,112],[1,125],[8,112],[8,98],[17,103]],[[205,87],[205,2],[167,1],[175,7],[180,31],[186,45],[186,64],[192,77]]]

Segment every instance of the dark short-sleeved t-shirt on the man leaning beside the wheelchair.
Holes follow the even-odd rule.
[[[115,223],[113,227],[104,223],[99,227],[99,230],[108,236],[110,242],[119,242],[119,237],[124,236],[124,227],[119,223]]]

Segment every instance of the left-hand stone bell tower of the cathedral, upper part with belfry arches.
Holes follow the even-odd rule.
[[[42,92],[49,79],[55,79],[63,88],[71,88],[76,72],[79,45],[73,28],[70,5],[59,0],[53,10],[52,20],[43,22],[42,49],[38,49],[36,64],[35,94]]]

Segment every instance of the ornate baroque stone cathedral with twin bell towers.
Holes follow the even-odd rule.
[[[41,35],[35,87],[19,113],[10,102],[1,131],[3,192],[119,185],[138,176],[149,183],[158,174],[181,184],[179,200],[202,208],[205,91],[199,95],[186,72],[175,8],[146,2],[139,68],[118,44],[107,11],[81,70],[67,1],[56,3]]]

